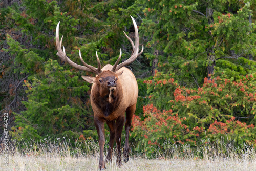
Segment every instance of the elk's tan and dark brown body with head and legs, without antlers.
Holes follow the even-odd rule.
[[[94,123],[99,135],[100,159],[99,168],[105,168],[105,162],[112,161],[112,152],[114,141],[117,145],[117,165],[122,165],[121,158],[121,134],[125,121],[125,146],[123,150],[124,161],[129,160],[129,132],[131,120],[136,110],[138,97],[138,85],[132,71],[122,67],[116,73],[110,71],[112,65],[106,65],[102,68],[102,72],[96,77],[82,76],[88,82],[93,83],[91,91],[91,105],[94,112]],[[116,78],[116,86],[106,87],[105,82],[108,82],[108,77]],[[103,81],[100,83],[99,80]],[[112,79],[113,80],[113,79]],[[105,86],[104,86],[105,85]],[[112,90],[113,91],[110,91]],[[109,96],[112,96],[111,101]],[[113,104],[110,112],[106,110],[106,105]],[[109,105],[110,106],[110,105]],[[106,123],[110,128],[110,142],[108,155],[104,162],[104,144],[105,144],[105,128]]]

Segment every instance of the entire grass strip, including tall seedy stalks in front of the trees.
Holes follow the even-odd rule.
[[[8,170],[98,170],[97,143],[76,144],[72,151],[69,146],[67,141],[23,143],[23,148],[14,143],[10,148]],[[193,155],[189,147],[183,146],[181,152],[178,146],[171,145],[164,154],[167,158],[154,160],[132,152],[129,162],[123,163],[120,168],[115,164],[114,154],[113,162],[106,164],[106,170],[256,170],[253,147],[224,147],[225,153],[222,147],[214,149],[211,145],[205,145],[194,149]],[[0,170],[3,170],[3,161],[0,163]]]

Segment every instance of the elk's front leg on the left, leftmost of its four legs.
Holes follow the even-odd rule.
[[[105,129],[104,119],[94,116],[94,123],[99,136],[99,169],[105,169],[104,163],[104,145],[105,145]]]

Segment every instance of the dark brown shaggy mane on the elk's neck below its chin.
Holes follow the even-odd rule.
[[[99,95],[98,86],[95,86],[95,89],[92,92],[93,103],[96,104],[96,106],[103,112],[105,117],[109,116],[113,111],[115,111],[118,108],[123,98],[122,86],[120,83],[116,87],[115,91],[115,93],[111,94],[113,99],[111,103],[108,101],[110,92],[106,94],[104,97],[101,97]]]

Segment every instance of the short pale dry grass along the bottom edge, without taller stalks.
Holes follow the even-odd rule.
[[[10,170],[97,170],[97,157],[24,157],[11,156]],[[108,163],[106,170],[256,170],[255,161],[246,160],[146,160],[132,158],[129,162],[117,167],[115,162]]]

